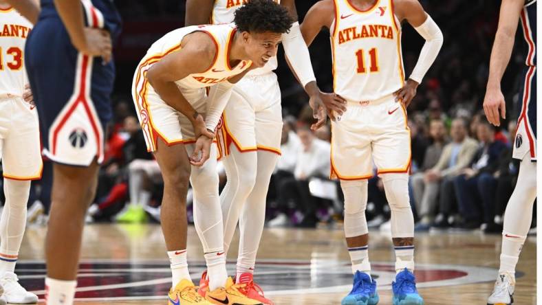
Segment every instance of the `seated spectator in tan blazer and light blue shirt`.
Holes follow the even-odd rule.
[[[467,124],[463,119],[455,119],[451,128],[452,142],[444,146],[439,161],[433,168],[424,172],[424,188],[418,210],[422,220],[418,230],[429,229],[439,209],[440,218],[447,218],[455,206],[453,179],[468,166],[478,148],[475,140],[467,135]]]

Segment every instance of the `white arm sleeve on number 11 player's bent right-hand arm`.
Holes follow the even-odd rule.
[[[427,19],[422,25],[415,27],[415,30],[425,39],[425,44],[410,78],[420,84],[433,62],[435,62],[444,38],[437,23],[429,15],[427,15]]]

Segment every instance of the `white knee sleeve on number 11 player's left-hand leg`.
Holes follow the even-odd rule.
[[[367,180],[340,181],[345,195],[345,237],[369,233],[365,208],[367,207]]]

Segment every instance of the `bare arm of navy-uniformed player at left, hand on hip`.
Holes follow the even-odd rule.
[[[54,0],[69,39],[80,52],[90,56],[102,56],[105,63],[111,60],[111,36],[105,30],[85,27],[83,8],[77,0]]]

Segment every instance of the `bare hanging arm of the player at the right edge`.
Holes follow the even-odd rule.
[[[503,0],[501,3],[499,25],[491,50],[489,78],[484,98],[484,113],[488,121],[495,126],[501,124],[499,116],[506,118],[506,102],[501,91],[501,79],[510,62],[519,14],[524,4],[523,0]]]

